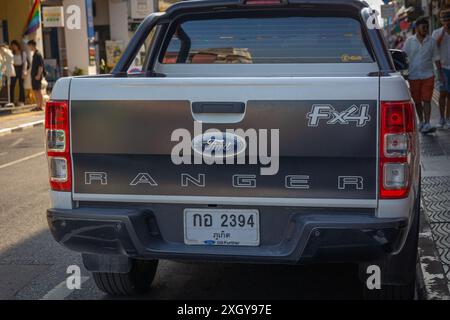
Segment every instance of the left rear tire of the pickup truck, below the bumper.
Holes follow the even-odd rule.
[[[127,273],[93,272],[97,287],[113,296],[133,296],[150,291],[158,267],[158,260],[133,259]]]

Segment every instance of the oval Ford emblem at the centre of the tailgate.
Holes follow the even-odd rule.
[[[245,151],[245,139],[230,132],[206,132],[192,140],[195,152],[210,158],[233,157]]]

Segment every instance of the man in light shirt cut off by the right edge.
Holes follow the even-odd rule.
[[[441,119],[438,128],[450,129],[450,8],[443,8],[439,13],[442,27],[433,31],[433,39],[439,48],[442,65],[442,79],[439,89],[439,112]]]

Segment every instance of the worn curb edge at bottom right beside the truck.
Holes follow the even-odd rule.
[[[420,300],[450,300],[447,278],[431,235],[431,227],[425,211],[426,208],[420,210],[418,298]]]

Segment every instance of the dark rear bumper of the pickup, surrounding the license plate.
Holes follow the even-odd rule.
[[[259,210],[258,247],[185,245],[179,207],[49,209],[47,219],[56,241],[82,253],[248,263],[370,261],[399,250],[408,229],[407,219],[366,213]]]

